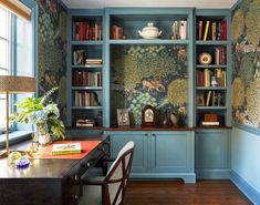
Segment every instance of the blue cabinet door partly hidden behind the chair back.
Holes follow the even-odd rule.
[[[146,132],[106,132],[111,136],[111,155],[116,157],[121,148],[128,142],[135,142],[135,151],[132,163],[132,173],[148,172],[148,139]]]

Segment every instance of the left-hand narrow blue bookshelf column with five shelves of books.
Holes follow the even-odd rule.
[[[69,17],[67,125],[103,126],[103,14],[71,12]]]

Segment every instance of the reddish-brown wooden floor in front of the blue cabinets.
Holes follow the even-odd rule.
[[[251,205],[230,181],[129,182],[124,205]]]

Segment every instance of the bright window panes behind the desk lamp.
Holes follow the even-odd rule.
[[[0,7],[0,74],[34,75],[32,22],[24,21]],[[10,112],[13,104],[29,94],[17,94],[10,99]],[[30,94],[32,95],[32,94]],[[6,94],[0,94],[0,131],[6,130]],[[19,126],[25,130],[29,126]],[[10,125],[10,129],[13,127]],[[22,129],[23,130],[23,129]],[[0,132],[1,134],[1,132]]]

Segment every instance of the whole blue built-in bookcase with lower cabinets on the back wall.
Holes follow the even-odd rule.
[[[74,24],[82,21],[101,22],[102,38],[75,40]],[[186,21],[185,39],[171,39],[173,24],[176,21]],[[227,40],[200,40],[198,37],[200,21],[205,23],[226,21]],[[147,22],[154,22],[163,31],[158,39],[147,40],[138,35],[138,30],[146,27]],[[93,127],[75,129],[71,132],[110,134],[112,156],[116,156],[122,145],[133,140],[136,143],[136,151],[131,176],[135,178],[177,177],[187,183],[195,183],[196,175],[199,178],[229,178],[231,124],[229,10],[195,8],[70,10],[67,24],[67,126],[75,129],[77,119],[90,117],[96,121]],[[225,63],[215,63],[216,48],[223,48],[220,50],[225,50],[222,52],[225,57],[227,55]],[[80,53],[81,50],[85,50],[87,58],[100,59],[102,63],[75,64],[73,62],[75,50],[80,50]],[[147,57],[150,50],[152,55],[148,57],[150,59],[146,61],[142,59],[144,55]],[[152,58],[155,51],[157,54],[164,53],[167,58],[156,64],[159,54]],[[211,64],[199,63],[199,55],[202,52],[211,54],[214,59]],[[141,71],[133,69],[132,64],[136,64]],[[154,64],[158,68],[157,73],[153,71]],[[204,73],[206,69],[212,73],[217,72],[217,69],[225,71],[225,86],[198,84],[198,73],[200,71]],[[75,71],[101,72],[102,84],[75,86],[73,80]],[[163,83],[158,83],[159,89],[155,86],[146,90],[144,81]],[[97,93],[100,104],[76,105],[75,91]],[[217,98],[215,103],[212,103],[215,98],[209,98],[212,103],[210,106],[206,104],[209,92]],[[198,102],[198,96],[202,96],[202,102]],[[169,110],[178,111],[185,107],[183,127],[164,129],[158,122],[160,129],[154,130],[136,129],[136,126],[117,127],[117,109],[128,109],[131,119],[134,119],[131,124],[138,125],[142,106],[145,103],[155,103],[156,107],[169,104],[165,110],[158,109],[159,122],[163,122],[164,115],[169,114]],[[205,113],[216,113],[220,117],[221,126],[217,129],[200,126]]]

